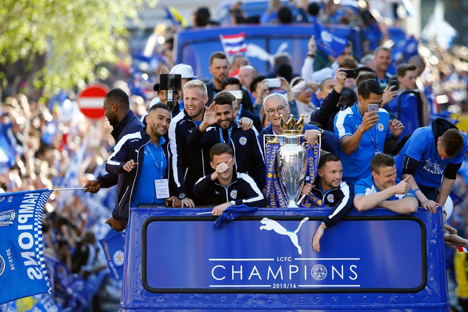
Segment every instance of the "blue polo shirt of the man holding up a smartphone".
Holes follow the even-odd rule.
[[[341,149],[338,156],[343,163],[343,180],[355,184],[359,179],[370,175],[370,161],[376,153],[383,153],[384,143],[390,139],[389,128],[390,115],[383,108],[377,112],[379,121],[374,127],[364,133],[359,147],[350,156]],[[352,136],[362,123],[362,115],[357,107],[357,102],[353,106],[338,112],[335,116],[335,135],[341,140],[342,137]]]

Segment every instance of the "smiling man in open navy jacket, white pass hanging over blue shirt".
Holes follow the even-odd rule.
[[[124,136],[117,143],[114,153],[109,156],[106,163],[106,170],[109,173],[118,175],[118,200],[112,215],[115,219],[120,219],[124,227],[128,224],[129,208],[138,194],[144,192],[149,197],[153,195],[151,199],[154,199],[147,200],[152,202],[141,202],[139,200],[139,203],[164,204],[165,198],[155,198],[155,180],[168,179],[169,194],[172,195],[168,196],[168,198],[172,201],[173,206],[179,203],[177,197],[174,196],[175,188],[170,161],[169,139],[165,137],[171,121],[169,108],[165,104],[152,106],[146,120],[148,122],[147,127],[139,132]],[[153,158],[155,155],[156,158]],[[148,163],[146,163],[147,161]],[[162,166],[159,164],[162,164]],[[145,165],[152,167],[145,167]],[[155,173],[155,175],[150,174],[148,176],[148,172]],[[141,180],[143,176],[145,180]],[[140,193],[138,193],[138,190]],[[148,196],[143,196],[143,198],[147,199]],[[115,230],[118,231],[119,229]]]

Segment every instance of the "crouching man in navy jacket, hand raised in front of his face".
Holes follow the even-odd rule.
[[[206,195],[217,206],[212,215],[221,215],[226,208],[237,205],[265,207],[262,192],[247,174],[235,172],[234,150],[227,143],[216,143],[210,149],[211,166],[215,172],[201,177],[194,186],[196,195]]]

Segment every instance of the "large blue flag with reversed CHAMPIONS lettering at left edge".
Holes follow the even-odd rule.
[[[0,304],[52,293],[42,252],[42,211],[51,193],[46,189],[1,194]]]

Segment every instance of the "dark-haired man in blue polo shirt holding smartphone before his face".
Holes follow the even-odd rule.
[[[390,153],[405,129],[380,108],[384,90],[376,80],[366,80],[357,89],[357,102],[338,112],[335,135],[340,140],[338,156],[343,162],[343,179],[354,184],[370,175],[369,164],[378,153]]]

